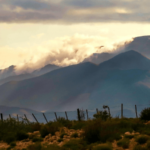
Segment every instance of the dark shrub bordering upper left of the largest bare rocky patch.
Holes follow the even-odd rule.
[[[55,135],[55,132],[59,131],[59,123],[49,122],[46,125],[43,125],[40,130],[41,137],[45,137],[48,134]]]

